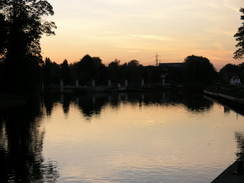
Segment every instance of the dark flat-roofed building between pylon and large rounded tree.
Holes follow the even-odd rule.
[[[184,63],[160,63],[163,84],[179,84],[182,82]]]

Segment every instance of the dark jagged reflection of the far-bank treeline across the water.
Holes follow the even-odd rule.
[[[208,111],[213,102],[203,97],[202,93],[178,93],[178,92],[148,92],[148,93],[111,93],[111,94],[84,94],[84,95],[71,95],[65,94],[45,95],[44,105],[46,113],[51,115],[53,107],[56,103],[61,102],[63,112],[67,115],[69,113],[70,103],[76,104],[81,113],[86,119],[92,116],[99,115],[101,110],[110,105],[113,108],[118,108],[121,103],[130,103],[131,105],[180,105],[194,113],[201,113]]]

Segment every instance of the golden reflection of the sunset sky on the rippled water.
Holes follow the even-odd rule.
[[[62,181],[210,182],[235,160],[244,120],[217,104],[194,113],[121,103],[89,121],[75,104],[68,114],[56,105],[43,121],[44,157],[58,161]]]

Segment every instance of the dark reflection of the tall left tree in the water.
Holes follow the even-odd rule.
[[[1,113],[0,182],[46,182],[56,180],[56,165],[44,163],[44,130],[40,129],[40,105],[26,105]]]

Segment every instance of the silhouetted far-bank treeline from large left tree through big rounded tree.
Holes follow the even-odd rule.
[[[46,58],[40,69],[40,80],[51,85],[59,85],[60,80],[65,85],[75,85],[76,80],[81,86],[91,86],[92,80],[96,81],[96,85],[107,85],[109,80],[112,84],[123,85],[127,80],[128,83],[139,85],[142,79],[145,83],[162,84],[162,75],[169,84],[212,83],[218,77],[207,58],[194,55],[187,57],[178,70],[164,65],[143,66],[137,60],[121,64],[120,60],[115,59],[105,65],[99,57],[90,55],[72,64],[68,64],[66,59],[57,64]]]

